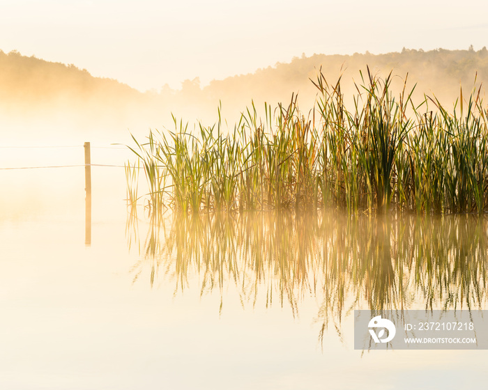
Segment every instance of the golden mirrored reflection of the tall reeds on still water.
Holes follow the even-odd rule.
[[[293,315],[312,296],[324,328],[351,309],[483,309],[487,228],[469,215],[171,214],[149,225],[133,272],[222,299],[232,284],[244,304]]]

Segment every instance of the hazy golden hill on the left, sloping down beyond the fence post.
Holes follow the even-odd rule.
[[[147,130],[154,104],[148,94],[75,65],[0,51],[0,127],[10,135],[125,137],[139,124]]]

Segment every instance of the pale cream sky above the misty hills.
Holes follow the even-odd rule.
[[[486,15],[486,0],[1,0],[0,49],[159,91],[302,54],[478,50]]]

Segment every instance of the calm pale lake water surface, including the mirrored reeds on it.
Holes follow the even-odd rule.
[[[485,385],[487,351],[353,350],[351,311],[486,309],[487,219],[128,224],[123,169],[94,167],[86,246],[83,174],[0,172],[0,388]]]

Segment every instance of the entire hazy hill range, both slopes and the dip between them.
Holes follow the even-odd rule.
[[[247,75],[214,80],[203,88],[198,79],[185,80],[181,89],[165,86],[157,93],[142,93],[114,79],[93,77],[75,65],[52,63],[18,52],[0,51],[0,116],[15,120],[52,120],[69,118],[70,123],[84,127],[128,127],[142,125],[161,127],[168,123],[170,113],[185,120],[202,119],[208,123],[216,118],[222,101],[224,116],[234,120],[251,100],[261,107],[287,102],[297,93],[304,111],[313,104],[319,69],[330,83],[342,75],[343,91],[356,93],[352,80],[360,82],[359,70],[380,75],[398,75],[398,86],[409,73],[409,86],[416,87],[416,96],[435,93],[445,104],[459,96],[459,84],[466,90],[473,86],[476,73],[478,85],[488,79],[488,50],[475,51],[436,49],[429,52],[403,49],[402,52],[373,55],[324,55],[294,58],[290,63],[277,63]]]

